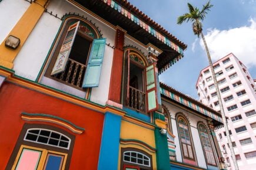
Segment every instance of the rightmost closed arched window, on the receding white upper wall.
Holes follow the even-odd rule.
[[[207,159],[207,164],[217,166],[215,157],[214,157],[214,152],[212,151],[212,145],[211,145],[211,140],[210,140],[210,135],[207,130],[207,127],[205,127],[204,124],[199,123],[198,124],[198,131],[200,134],[201,142],[202,142],[202,147],[204,148],[204,154]]]

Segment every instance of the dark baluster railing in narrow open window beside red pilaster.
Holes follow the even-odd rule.
[[[145,113],[145,93],[129,86],[128,106],[135,109],[136,111]]]

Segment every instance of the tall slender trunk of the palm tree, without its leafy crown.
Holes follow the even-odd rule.
[[[218,87],[218,82],[217,82],[217,79],[216,79],[216,76],[215,76],[215,73],[214,73],[214,68],[212,66],[210,52],[208,50],[207,43],[205,41],[204,34],[202,32],[201,32],[201,37],[202,37],[202,40],[204,42],[205,50],[207,52],[208,62],[210,64],[212,78],[214,80],[214,86],[216,88],[216,93],[217,93],[218,101],[219,101],[219,104],[220,104],[221,117],[222,117],[222,121],[223,121],[223,124],[224,124],[225,132],[227,134],[228,145],[230,145],[231,157],[232,157],[232,160],[234,162],[235,169],[238,169],[237,161],[235,159],[235,152],[234,152],[234,149],[233,149],[233,146],[232,146],[232,142],[231,142],[231,138],[230,138],[230,132],[228,131],[228,124],[227,124],[227,120],[226,120],[224,109],[223,109],[223,105],[222,105],[220,89]]]

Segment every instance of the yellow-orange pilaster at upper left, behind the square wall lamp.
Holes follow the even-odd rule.
[[[14,67],[14,59],[26,42],[29,34],[34,29],[39,18],[41,18],[42,13],[44,13],[43,6],[46,2],[47,0],[37,0],[36,2],[33,2],[9,33],[9,35],[16,36],[21,40],[17,49],[14,50],[6,47],[5,40],[2,42],[0,45],[0,66],[7,67],[8,69],[12,69]],[[8,36],[6,38],[8,38]]]

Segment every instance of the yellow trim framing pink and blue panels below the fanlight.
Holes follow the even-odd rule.
[[[17,156],[15,158],[14,165],[12,165],[12,170],[14,170],[16,168],[16,166],[18,164],[18,161],[19,161],[19,157],[21,157],[21,153],[22,153],[22,150],[24,148],[25,149],[33,149],[35,151],[41,151],[41,157],[39,158],[39,161],[38,161],[38,168],[37,168],[37,170],[44,169],[44,165],[45,165],[48,153],[64,156],[64,159],[63,159],[63,162],[62,162],[62,165],[61,165],[62,166],[61,169],[62,170],[65,169],[65,165],[66,165],[66,162],[67,162],[68,154],[62,153],[62,152],[46,150],[46,149],[42,149],[42,148],[37,148],[37,147],[30,147],[30,146],[27,146],[27,145],[21,145],[21,147],[19,148],[18,154],[17,154]]]

